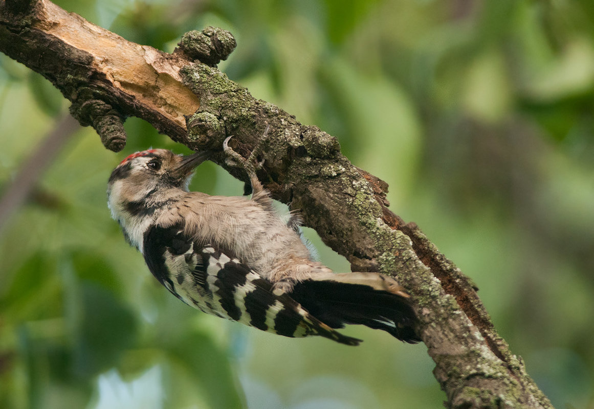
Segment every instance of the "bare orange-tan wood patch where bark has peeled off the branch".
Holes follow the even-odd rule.
[[[105,74],[104,81],[185,128],[184,114],[200,107],[198,97],[182,84],[179,75],[188,59],[132,43],[52,2],[41,4],[40,20],[32,28],[89,53],[97,72]]]

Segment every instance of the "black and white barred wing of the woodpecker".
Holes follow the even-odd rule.
[[[347,345],[361,342],[328,327],[289,295],[274,294],[270,282],[228,252],[186,237],[182,226],[153,226],[144,237],[143,253],[163,286],[208,314],[286,337],[321,335]]]

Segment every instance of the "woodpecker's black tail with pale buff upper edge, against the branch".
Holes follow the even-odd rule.
[[[362,324],[407,343],[421,338],[409,296],[396,280],[380,273],[324,273],[299,282],[290,293],[309,314],[331,328]]]

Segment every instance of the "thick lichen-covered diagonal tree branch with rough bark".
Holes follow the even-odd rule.
[[[233,135],[231,145],[246,156],[269,124],[260,179],[275,199],[299,209],[305,225],[353,270],[397,276],[412,295],[447,407],[551,408],[495,331],[472,282],[414,223],[387,209],[387,184],[350,164],[336,138],[255,100],[217,70],[235,46],[228,33],[194,34],[168,54],[48,0],[0,1],[0,51],[48,78],[72,101],[72,114],[93,125],[112,150],[124,146],[127,116],[195,150],[220,150]],[[220,153],[213,161],[228,168]]]

